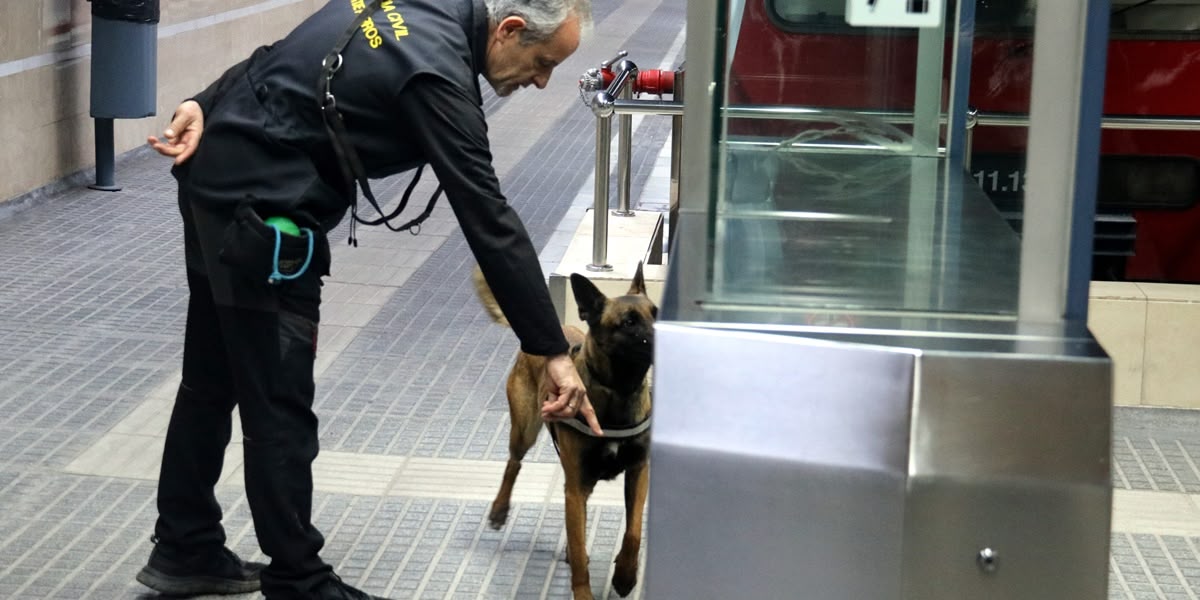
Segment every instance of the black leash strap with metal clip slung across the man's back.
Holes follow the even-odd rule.
[[[362,24],[371,18],[372,14],[379,12],[384,0],[373,0],[359,17],[354,20],[354,24],[346,30],[337,43],[334,44],[334,49],[325,55],[325,59],[320,62],[320,80],[317,82],[317,95],[320,98],[320,113],[324,116],[325,131],[329,133],[329,139],[334,145],[334,154],[337,155],[337,166],[342,170],[342,176],[346,179],[346,187],[353,193],[355,184],[362,190],[362,196],[366,197],[371,206],[379,212],[379,218],[366,220],[359,216],[358,209],[359,203],[355,198],[350,202],[350,238],[349,242],[353,246],[359,245],[358,238],[354,235],[355,223],[362,223],[367,226],[384,224],[388,229],[394,232],[412,232],[413,235],[421,233],[421,223],[433,212],[433,205],[437,204],[438,198],[442,196],[442,186],[439,185],[437,191],[430,198],[428,204],[425,210],[421,211],[416,218],[408,221],[402,226],[394,226],[391,223],[392,218],[400,216],[400,214],[408,206],[408,198],[412,196],[413,190],[416,187],[416,182],[421,180],[421,173],[425,170],[425,166],[416,169],[416,174],[413,180],[408,184],[404,190],[404,194],[400,199],[400,205],[396,206],[390,214],[384,214],[383,209],[379,206],[379,202],[376,200],[374,193],[371,192],[371,184],[367,181],[366,169],[362,167],[362,161],[359,158],[359,152],[354,150],[354,144],[350,143],[349,133],[346,131],[346,122],[342,119],[342,113],[337,110],[337,98],[334,96],[332,84],[334,76],[342,68],[342,50],[346,46],[350,43],[350,40],[360,30]]]

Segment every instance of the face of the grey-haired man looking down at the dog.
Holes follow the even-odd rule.
[[[538,43],[521,43],[524,28],[521,17],[508,17],[488,36],[484,78],[498,96],[508,96],[526,85],[545,88],[554,67],[580,46],[580,19],[574,14],[553,36]]]

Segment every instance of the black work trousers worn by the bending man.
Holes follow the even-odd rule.
[[[269,284],[265,274],[251,276],[218,259],[229,242],[228,215],[202,211],[182,192],[180,210],[191,295],[182,382],[158,480],[158,547],[186,556],[224,545],[214,486],[236,406],[246,496],[259,546],[271,557],[263,593],[272,600],[306,598],[331,574],[318,556],[324,538],[311,522],[318,450],[313,359],[328,245],[326,264]],[[328,244],[323,236],[320,242]]]

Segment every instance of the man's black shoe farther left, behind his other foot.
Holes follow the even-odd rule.
[[[262,563],[247,563],[232,550],[182,556],[163,548],[156,539],[150,562],[138,572],[143,586],[169,596],[245,594],[262,587]]]

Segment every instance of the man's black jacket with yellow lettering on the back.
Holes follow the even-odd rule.
[[[317,98],[322,59],[359,4],[331,0],[194,97],[204,136],[187,167],[176,169],[194,198],[220,206],[251,196],[260,212],[302,211],[326,230],[344,216],[349,198]],[[484,2],[389,1],[370,23],[342,52],[332,82],[367,174],[428,163],[521,349],[565,353],[536,251],[492,168],[479,90]]]

